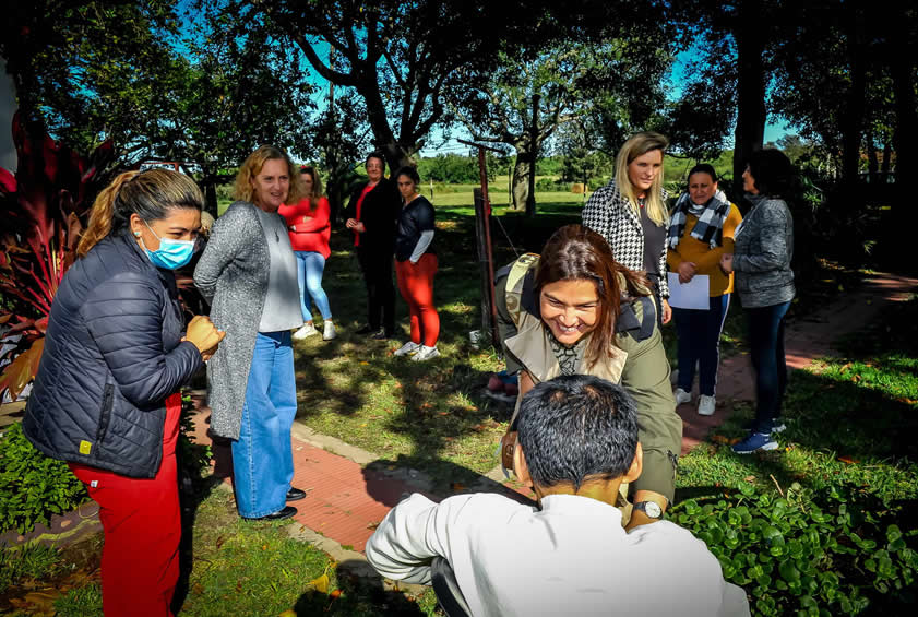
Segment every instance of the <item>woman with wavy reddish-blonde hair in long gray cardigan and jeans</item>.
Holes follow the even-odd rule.
[[[284,151],[263,145],[236,177],[237,202],[211,230],[194,284],[226,331],[207,365],[211,428],[233,439],[236,508],[246,519],[287,519],[302,499],[290,487],[290,427],[297,413],[290,330],[302,325],[297,264],[287,224],[277,214],[299,200]]]

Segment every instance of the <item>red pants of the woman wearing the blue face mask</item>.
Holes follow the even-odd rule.
[[[181,396],[166,399],[163,462],[156,477],[138,479],[70,464],[99,506],[105,531],[102,604],[105,617],[171,617],[179,578],[179,510],[176,472]]]

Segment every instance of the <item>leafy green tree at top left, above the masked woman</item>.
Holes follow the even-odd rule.
[[[236,36],[218,4],[17,3],[4,28],[24,43],[0,51],[23,115],[78,151],[111,140],[124,165],[189,163],[216,212],[215,183],[255,146],[306,150],[313,107],[299,51],[263,21]]]

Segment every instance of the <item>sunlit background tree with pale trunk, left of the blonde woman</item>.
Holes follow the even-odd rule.
[[[672,62],[675,40],[657,20],[597,28],[621,38],[561,40],[518,57],[502,58],[482,87],[464,91],[456,115],[482,142],[510,145],[513,207],[535,214],[535,165],[559,126],[584,120],[597,127],[595,150],[610,149],[621,134],[646,124],[663,105],[661,81]],[[582,122],[583,123],[583,122]]]

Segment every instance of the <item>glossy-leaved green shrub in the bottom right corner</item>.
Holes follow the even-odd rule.
[[[746,589],[758,615],[855,615],[915,602],[918,554],[893,522],[897,509],[848,485],[786,497],[751,484],[717,501],[688,500],[672,520]]]

